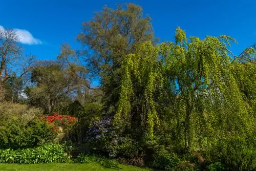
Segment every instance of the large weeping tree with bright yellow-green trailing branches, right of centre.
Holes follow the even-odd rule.
[[[198,142],[207,136],[253,130],[227,49],[234,39],[224,35],[186,38],[177,28],[175,40],[159,46],[150,41],[137,44],[134,53],[122,60],[115,122],[138,125],[139,121],[152,139],[163,117],[158,111],[167,108],[174,138],[185,149],[202,144]]]

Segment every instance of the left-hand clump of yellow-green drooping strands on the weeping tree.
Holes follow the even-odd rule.
[[[147,137],[153,138],[154,127],[159,124],[154,93],[162,81],[157,62],[159,48],[150,41],[134,48],[136,53],[127,55],[121,66],[123,77],[115,122],[131,125],[131,112],[137,109],[141,116],[135,117],[139,119],[136,126],[142,126],[147,130]]]

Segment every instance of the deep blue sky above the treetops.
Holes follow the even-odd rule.
[[[79,47],[74,38],[93,11],[127,2],[140,5],[152,17],[160,41],[173,41],[175,28],[180,26],[188,36],[226,34],[236,38],[239,45],[231,48],[236,55],[256,42],[256,0],[0,0],[0,26],[23,35],[25,53],[55,59],[63,42]]]

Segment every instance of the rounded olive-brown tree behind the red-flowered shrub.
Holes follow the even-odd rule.
[[[31,104],[52,113],[54,106],[73,98],[81,87],[88,87],[87,70],[83,67],[71,65],[63,69],[59,65],[37,66],[31,72],[31,82],[34,87],[27,88]]]

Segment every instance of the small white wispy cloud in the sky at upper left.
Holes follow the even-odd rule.
[[[5,30],[3,26],[0,25],[0,31]],[[28,30],[23,30],[23,29],[13,29],[16,31],[19,40],[18,42],[22,44],[27,44],[27,45],[38,45],[42,44],[42,41],[40,39],[35,38]]]

